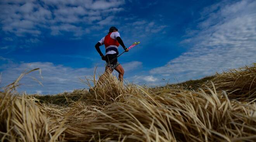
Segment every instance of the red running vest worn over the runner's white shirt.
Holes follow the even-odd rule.
[[[106,52],[112,50],[112,51],[116,51],[118,53],[117,48],[119,46],[119,43],[118,43],[118,41],[116,41],[116,40],[114,40],[110,37],[111,33],[107,34],[105,39],[104,39],[104,45],[105,45],[105,48],[106,48]],[[109,47],[109,46],[113,46],[113,47]]]

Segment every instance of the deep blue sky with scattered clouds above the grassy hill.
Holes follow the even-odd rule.
[[[95,66],[98,74],[104,71],[94,45],[111,26],[126,46],[141,42],[118,58],[125,80],[138,85],[250,65],[256,61],[255,7],[254,0],[2,0],[0,86],[40,68],[42,76],[25,76],[19,91],[87,88],[78,78],[92,76]]]

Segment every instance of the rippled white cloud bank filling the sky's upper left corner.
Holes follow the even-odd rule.
[[[4,32],[17,36],[38,36],[45,29],[52,35],[73,32],[81,36],[91,31],[93,22],[99,25],[111,22],[114,12],[124,10],[120,7],[123,4],[124,0],[3,0],[0,24]]]

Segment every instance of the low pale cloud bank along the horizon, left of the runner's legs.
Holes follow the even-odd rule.
[[[0,60],[6,61],[4,57],[0,56]],[[133,70],[140,66],[142,63],[133,61],[123,64],[126,71]],[[37,93],[41,90],[41,93],[61,93],[65,90],[74,90],[78,88],[88,88],[85,84],[80,83],[78,78],[85,79],[85,76],[90,78],[93,76],[95,68],[70,68],[63,65],[56,65],[50,62],[33,62],[33,63],[21,63],[21,64],[3,64],[0,66],[2,71],[1,85],[7,85],[15,81],[18,76],[25,70],[40,68],[42,70],[42,77],[38,71],[29,73],[22,78],[19,91],[26,91],[27,93]],[[97,73],[104,73],[105,68],[103,66],[97,67]],[[98,75],[98,74],[97,74]],[[41,86],[37,81],[33,80],[34,77],[40,81]]]

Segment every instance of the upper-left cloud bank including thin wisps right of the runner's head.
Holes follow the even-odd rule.
[[[118,17],[116,12],[124,11],[125,0],[31,0],[2,1],[0,3],[0,24],[5,35],[38,39],[44,41],[45,35],[67,35],[69,39],[83,39],[86,35],[99,30],[106,30],[113,23],[123,32],[122,36],[129,35],[136,39],[143,39],[147,35],[162,32],[166,25],[159,25],[156,21],[147,21],[128,15]],[[129,19],[129,17],[132,17]],[[119,21],[131,21],[120,25]],[[32,37],[30,37],[32,36]],[[97,36],[93,34],[92,36]],[[19,39],[13,36],[12,38]],[[129,38],[128,42],[134,38]],[[138,39],[138,40],[140,40]],[[12,51],[19,47],[31,47],[23,41],[5,42],[11,45]],[[14,45],[16,44],[16,45]],[[26,44],[26,45],[23,45]]]

